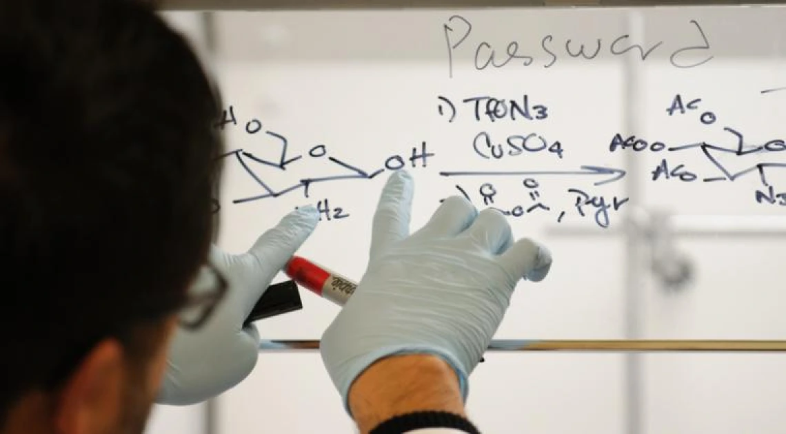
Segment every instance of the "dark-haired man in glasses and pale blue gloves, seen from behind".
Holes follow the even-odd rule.
[[[0,2],[0,75],[0,433],[139,434],[156,400],[237,385],[259,345],[244,318],[316,210],[248,253],[211,246],[221,104],[141,2]],[[477,432],[468,375],[551,258],[457,197],[410,235],[412,195],[390,175],[322,359],[361,432]]]

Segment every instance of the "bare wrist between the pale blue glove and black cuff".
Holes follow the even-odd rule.
[[[391,356],[373,363],[354,381],[349,405],[362,434],[414,411],[446,411],[465,417],[453,368],[437,356],[422,354]]]

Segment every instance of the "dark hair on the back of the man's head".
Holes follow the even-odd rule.
[[[0,2],[0,425],[102,338],[185,301],[211,241],[219,104],[146,2]]]

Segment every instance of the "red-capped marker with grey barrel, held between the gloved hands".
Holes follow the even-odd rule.
[[[358,287],[358,284],[350,279],[298,256],[292,257],[285,273],[298,285],[340,306],[349,300],[354,289]]]

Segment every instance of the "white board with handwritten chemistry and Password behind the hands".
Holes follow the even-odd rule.
[[[551,275],[520,284],[498,338],[782,338],[784,19],[764,7],[217,13],[211,68],[230,119],[219,244],[246,250],[310,203],[323,217],[299,254],[360,279],[380,188],[406,167],[413,229],[466,195],[552,250]],[[259,323],[263,337],[320,337],[339,308],[302,297],[302,311]],[[488,432],[784,422],[782,357],[487,359],[469,410]],[[221,403],[226,432],[351,427],[314,353],[263,356]]]

